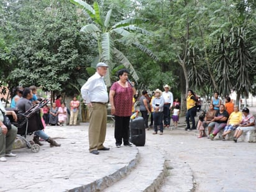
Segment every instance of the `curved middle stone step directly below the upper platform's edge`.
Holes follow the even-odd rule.
[[[134,170],[114,185],[109,185],[104,192],[112,191],[158,191],[162,185],[167,167],[165,158],[152,146],[138,147],[139,162]]]

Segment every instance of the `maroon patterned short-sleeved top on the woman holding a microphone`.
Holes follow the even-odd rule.
[[[134,96],[132,86],[128,85],[127,88],[124,88],[119,85],[118,82],[115,82],[110,89],[115,91],[114,106],[116,108],[116,113],[114,115],[119,117],[130,117],[132,111],[132,98]]]

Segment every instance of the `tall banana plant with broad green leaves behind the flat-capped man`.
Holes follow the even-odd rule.
[[[83,9],[85,15],[89,16],[91,21],[93,21],[90,24],[81,27],[80,31],[84,32],[85,34],[93,35],[93,38],[97,40],[99,51],[98,61],[107,63],[107,65],[109,65],[108,71],[111,71],[112,68],[114,68],[114,59],[116,59],[117,61],[119,61],[119,63],[121,63],[130,70],[130,74],[135,81],[139,80],[139,76],[135,72],[132,64],[129,62],[126,56],[116,48],[116,43],[127,43],[127,39],[129,39],[129,37],[132,36],[134,32],[144,35],[152,35],[147,30],[136,26],[145,22],[145,20],[129,18],[117,22],[116,24],[111,26],[110,21],[112,9],[107,12],[103,20],[103,17],[101,16],[101,12],[99,10],[98,2],[94,2],[93,7],[91,7],[85,1],[70,1]],[[117,37],[121,37],[121,39],[116,39]],[[139,48],[140,50],[142,50],[142,52],[146,53],[151,58],[157,60],[157,57],[147,47],[140,44],[137,39],[129,39],[129,42],[131,45]],[[105,79],[107,85],[111,85],[109,72]]]

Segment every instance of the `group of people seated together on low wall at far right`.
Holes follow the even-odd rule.
[[[222,140],[226,140],[226,136],[234,132],[233,140],[237,142],[240,135],[250,130],[255,130],[255,117],[250,114],[247,107],[239,111],[239,106],[231,102],[231,98],[225,98],[225,104],[222,104],[218,93],[214,93],[214,98],[209,104],[209,110],[204,115],[201,114],[198,120],[197,129],[199,136],[206,137],[205,130],[208,129],[208,138],[214,140],[214,137],[222,130]]]

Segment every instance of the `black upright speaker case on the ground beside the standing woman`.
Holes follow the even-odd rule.
[[[145,145],[145,124],[143,117],[130,119],[130,142],[136,146]]]

